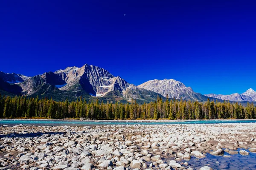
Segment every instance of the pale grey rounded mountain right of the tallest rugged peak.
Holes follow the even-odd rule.
[[[194,92],[191,87],[186,87],[182,82],[175,79],[149,80],[141,85],[138,85],[138,87],[154,91],[162,94],[165,97],[168,94],[169,98],[182,98],[194,101],[206,101],[208,98],[207,96]]]

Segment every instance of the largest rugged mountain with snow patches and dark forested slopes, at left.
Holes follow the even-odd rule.
[[[159,95],[129,84],[119,76],[114,77],[104,68],[87,64],[81,68],[68,67],[34,77],[1,73],[0,81],[5,83],[5,87],[0,87],[0,90],[12,93],[12,84],[16,83],[15,94],[40,98],[53,97],[63,100],[66,97],[76,99],[82,96],[87,99],[97,97],[104,101],[125,102],[137,99],[138,102],[150,102],[156,100]]]

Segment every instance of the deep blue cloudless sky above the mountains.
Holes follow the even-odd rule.
[[[135,85],[172,78],[242,93],[256,90],[256,3],[1,1],[0,57],[0,71],[28,76],[88,63]]]

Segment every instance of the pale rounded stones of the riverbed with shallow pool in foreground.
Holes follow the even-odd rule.
[[[1,126],[0,170],[249,170],[255,138],[256,123]]]

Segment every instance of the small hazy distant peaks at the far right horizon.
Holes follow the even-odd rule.
[[[222,94],[205,94],[205,96],[214,97],[222,100],[229,100],[233,102],[256,102],[256,91],[253,89],[248,89],[242,94],[230,94],[230,95],[222,95]]]

